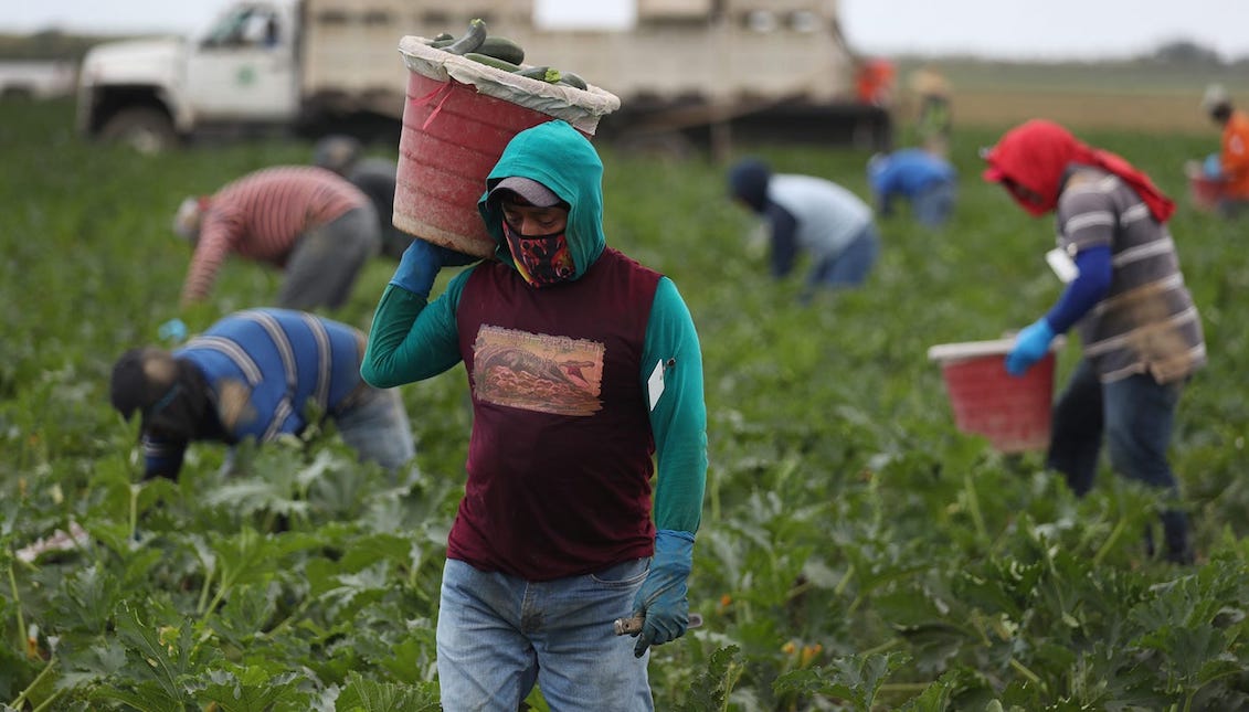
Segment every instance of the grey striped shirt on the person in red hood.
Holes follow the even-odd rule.
[[[1058,201],[1058,246],[1109,246],[1110,290],[1077,325],[1102,382],[1149,373],[1165,383],[1205,365],[1202,319],[1165,222],[1118,176],[1073,174]]]

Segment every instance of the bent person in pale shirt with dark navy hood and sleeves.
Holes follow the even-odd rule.
[[[771,229],[772,276],[793,271],[801,252],[811,271],[799,296],[819,287],[857,287],[879,255],[872,206],[846,187],[816,176],[773,174],[758,159],[743,159],[728,174],[729,194]]]

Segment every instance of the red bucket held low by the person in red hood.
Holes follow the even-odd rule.
[[[1055,356],[1050,351],[1023,376],[1007,372],[1014,340],[943,344],[928,350],[938,361],[960,432],[980,435],[999,452],[1049,446]]]

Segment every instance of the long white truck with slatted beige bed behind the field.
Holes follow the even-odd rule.
[[[526,64],[621,97],[601,136],[706,140],[723,129],[888,141],[888,109],[856,95],[862,62],[837,0],[634,0],[628,29],[542,27],[541,0],[235,0],[201,34],[109,42],[79,71],[79,130],[162,150],[202,135],[346,131],[397,142],[403,36],[473,17]]]

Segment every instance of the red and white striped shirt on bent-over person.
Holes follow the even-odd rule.
[[[227,184],[204,212],[182,301],[207,296],[230,254],[284,267],[306,231],[365,205],[360,189],[313,166],[262,169]]]

